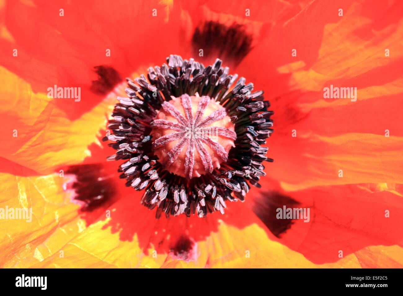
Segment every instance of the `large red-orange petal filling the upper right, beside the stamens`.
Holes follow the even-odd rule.
[[[401,1],[313,1],[243,60],[245,77],[256,60],[266,71],[251,79],[274,97],[268,174],[283,188],[403,183],[402,11]],[[356,101],[324,98],[330,85],[356,88]]]

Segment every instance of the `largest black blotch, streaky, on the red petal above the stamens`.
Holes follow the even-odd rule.
[[[195,52],[203,49],[204,56],[214,55],[237,65],[251,51],[252,39],[243,25],[233,23],[228,27],[208,21],[195,29],[192,45]]]

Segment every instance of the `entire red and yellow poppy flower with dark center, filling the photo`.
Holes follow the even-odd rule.
[[[402,10],[1,3],[0,266],[402,267]]]

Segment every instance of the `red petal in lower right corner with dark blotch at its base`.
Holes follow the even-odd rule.
[[[255,199],[253,209],[269,229],[282,229],[277,233],[278,242],[313,263],[339,262],[343,260],[340,255],[355,255],[361,267],[401,268],[400,191],[395,184],[318,186],[291,193],[264,191]],[[275,219],[277,209],[284,206],[310,209],[309,219]],[[291,226],[288,230],[287,224]]]

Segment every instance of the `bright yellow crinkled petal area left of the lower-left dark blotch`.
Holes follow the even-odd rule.
[[[28,210],[19,216],[25,219],[0,219],[0,267],[30,267],[58,256],[60,247],[85,228],[78,206],[62,192],[63,181],[58,174],[0,174],[0,211]]]

